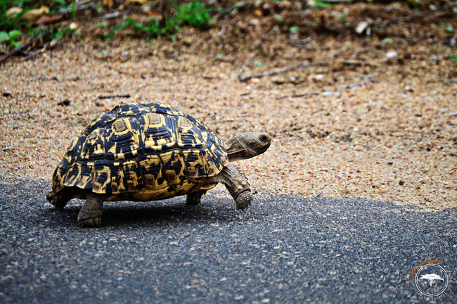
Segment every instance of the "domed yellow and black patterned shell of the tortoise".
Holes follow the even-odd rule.
[[[53,193],[76,186],[99,194],[186,193],[228,163],[203,122],[165,103],[120,103],[75,138],[53,175]]]

